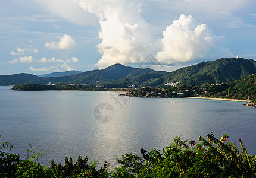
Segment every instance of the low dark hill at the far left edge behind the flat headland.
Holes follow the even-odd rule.
[[[0,85],[24,84],[32,80],[39,80],[40,77],[32,74],[0,75]]]

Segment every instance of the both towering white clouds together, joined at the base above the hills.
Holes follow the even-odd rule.
[[[152,55],[163,64],[184,63],[211,56],[214,49],[225,53],[222,37],[213,34],[206,24],[192,16],[181,15],[163,33],[163,39],[152,34],[151,26],[141,17],[142,4],[137,1],[75,0],[99,18],[99,59],[104,68],[114,63],[140,63]],[[220,47],[217,47],[220,46]],[[217,47],[217,48],[216,48]]]

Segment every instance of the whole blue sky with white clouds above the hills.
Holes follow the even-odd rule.
[[[0,74],[256,59],[255,0],[8,0]]]

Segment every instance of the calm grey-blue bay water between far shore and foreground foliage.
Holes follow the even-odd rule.
[[[87,155],[99,166],[108,161],[113,167],[127,152],[163,150],[175,136],[197,141],[211,132],[217,138],[228,133],[237,143],[241,138],[249,154],[256,154],[256,108],[242,102],[10,88],[0,86],[1,140],[11,142],[21,158],[31,144],[36,152],[43,150],[43,163],[52,158],[64,163],[65,156],[75,162],[78,155]],[[110,104],[114,112],[109,105],[95,110],[100,103]],[[109,116],[110,122],[98,122],[95,113]]]

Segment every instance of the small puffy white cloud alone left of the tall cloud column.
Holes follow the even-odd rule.
[[[73,37],[68,34],[64,34],[64,36],[58,36],[58,42],[46,42],[45,47],[51,50],[62,50],[62,49],[71,49],[76,46],[76,42]]]

